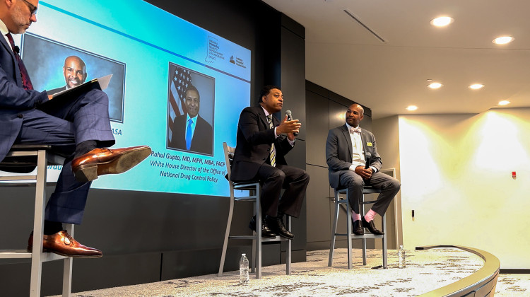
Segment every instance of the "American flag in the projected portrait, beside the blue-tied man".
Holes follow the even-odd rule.
[[[184,97],[186,95],[184,94],[184,91],[186,91],[186,88],[191,84],[191,72],[188,69],[176,66],[175,72],[172,73],[170,81],[170,107],[169,114],[167,115],[167,123],[170,127],[168,141],[170,141],[172,137],[171,129],[173,127],[173,120],[175,119],[175,117],[179,115],[185,115],[187,112],[186,105],[184,105]]]

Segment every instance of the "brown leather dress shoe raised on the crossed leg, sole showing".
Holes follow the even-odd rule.
[[[124,173],[151,154],[149,146],[130,148],[94,148],[73,159],[72,171],[76,180],[90,182],[100,175]]]

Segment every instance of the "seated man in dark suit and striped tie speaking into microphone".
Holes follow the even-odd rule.
[[[285,154],[295,145],[295,133],[300,131],[298,120],[281,122],[273,116],[283,106],[283,94],[278,86],[265,86],[259,95],[257,107],[242,110],[237,124],[235,148],[230,179],[235,182],[261,182],[261,210],[264,220],[261,236],[274,238],[281,235],[293,239],[283,223],[283,215],[300,215],[309,175],[300,168],[287,165]],[[287,136],[283,136],[285,133]],[[281,199],[281,189],[285,188]],[[249,223],[255,231],[255,218]]]

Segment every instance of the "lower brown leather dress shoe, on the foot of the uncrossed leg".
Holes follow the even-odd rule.
[[[33,232],[28,240],[28,252],[33,250]],[[57,255],[77,258],[98,258],[103,255],[100,250],[88,248],[73,239],[66,230],[52,235],[44,235],[42,252],[54,252]]]

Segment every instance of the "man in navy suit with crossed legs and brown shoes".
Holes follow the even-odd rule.
[[[114,144],[108,98],[98,88],[70,98],[47,112],[38,108],[51,99],[35,91],[11,34],[23,34],[37,21],[38,0],[0,0],[0,161],[14,143],[49,144],[69,155],[46,206],[44,251],[71,257],[101,257],[81,245],[62,223],[81,223],[90,181],[123,173],[149,156],[151,148],[109,149]],[[33,233],[28,240],[33,250]]]

